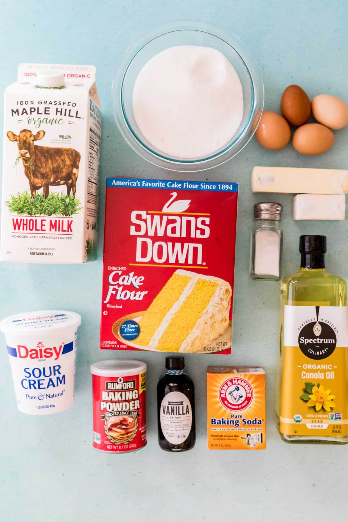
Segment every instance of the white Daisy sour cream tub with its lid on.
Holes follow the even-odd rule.
[[[11,315],[0,323],[19,411],[47,415],[73,405],[80,324],[79,314],[64,310]]]

